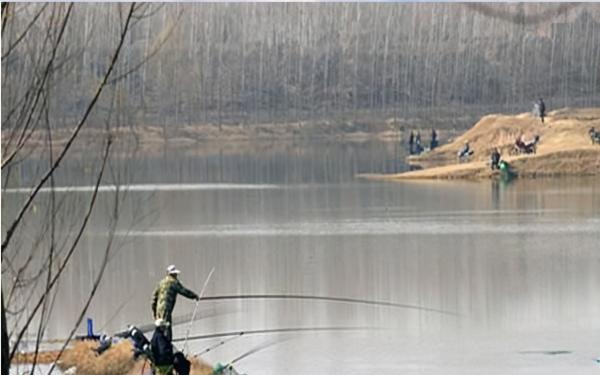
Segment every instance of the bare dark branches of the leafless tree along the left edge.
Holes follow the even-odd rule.
[[[15,39],[12,39],[14,42],[9,44],[8,47],[6,47],[6,44],[3,44],[3,47],[6,47],[3,48],[2,60],[3,91],[6,90],[6,92],[11,92],[12,88],[17,88],[17,90],[19,90],[22,87],[19,85],[19,82],[29,82],[29,87],[23,87],[25,94],[14,103],[16,105],[15,107],[6,108],[6,102],[3,100],[2,103],[3,112],[8,112],[8,118],[11,120],[10,124],[7,124],[9,130],[8,141],[7,143],[3,143],[3,147],[9,145],[13,140],[16,141],[14,148],[10,151],[8,156],[5,155],[6,158],[3,158],[2,174],[5,179],[3,187],[10,186],[11,181],[15,181],[16,178],[19,177],[18,174],[20,173],[11,173],[13,168],[18,168],[18,166],[16,166],[18,164],[17,159],[27,160],[31,158],[31,148],[26,150],[23,148],[23,145],[29,142],[30,137],[34,134],[33,129],[37,129],[37,124],[39,122],[44,122],[46,125],[45,131],[47,132],[47,139],[45,139],[45,143],[39,145],[38,148],[42,152],[42,155],[44,152],[47,152],[49,157],[49,165],[43,170],[39,179],[37,179],[29,196],[25,198],[23,202],[19,202],[18,199],[14,201],[15,205],[19,205],[16,210],[17,214],[14,220],[7,225],[8,229],[3,235],[2,277],[3,284],[4,282],[7,282],[7,288],[10,290],[9,300],[5,300],[4,289],[2,290],[3,374],[8,373],[15,354],[21,347],[23,340],[34,322],[36,322],[37,325],[34,333],[34,363],[32,364],[31,371],[32,373],[35,372],[37,352],[39,350],[39,345],[43,340],[48,319],[50,318],[54,307],[55,297],[58,291],[57,286],[59,285],[61,276],[63,276],[67,265],[71,262],[74,254],[77,253],[81,239],[84,236],[86,228],[90,223],[92,213],[94,212],[94,208],[97,205],[99,187],[106,177],[105,170],[109,167],[109,159],[113,149],[112,145],[114,144],[111,129],[111,123],[114,120],[110,115],[107,117],[104,132],[101,137],[97,138],[98,142],[104,140],[103,143],[105,146],[99,156],[100,169],[96,174],[94,190],[89,198],[87,210],[77,225],[75,225],[75,223],[78,220],[78,215],[74,209],[80,199],[78,198],[79,195],[71,195],[68,204],[61,203],[65,200],[66,196],[63,196],[63,198],[57,202],[55,194],[56,172],[59,170],[61,162],[67,158],[74,142],[79,138],[81,130],[90,122],[92,112],[94,112],[94,109],[100,102],[102,94],[108,87],[112,88],[113,92],[116,90],[116,86],[111,85],[109,81],[114,75],[115,70],[118,69],[120,56],[123,54],[122,52],[125,49],[124,46],[129,40],[128,35],[133,27],[132,24],[135,19],[135,11],[136,9],[140,9],[140,11],[143,9],[133,3],[127,6],[127,10],[123,14],[121,21],[117,21],[116,24],[118,24],[118,27],[116,31],[118,31],[118,39],[115,40],[115,45],[110,51],[110,59],[102,74],[102,79],[98,82],[94,95],[86,104],[85,109],[82,111],[79,120],[77,120],[73,127],[68,140],[61,145],[60,150],[54,153],[56,142],[53,133],[58,125],[59,117],[53,114],[52,107],[56,107],[56,104],[59,103],[61,99],[57,99],[56,102],[52,101],[54,100],[53,98],[57,97],[56,90],[59,88],[63,78],[70,74],[70,69],[72,69],[73,66],[77,66],[73,65],[76,64],[76,62],[72,60],[73,55],[70,52],[73,48],[69,45],[69,42],[62,42],[65,39],[72,39],[74,37],[72,32],[67,31],[73,22],[75,22],[76,25],[81,24],[80,18],[78,18],[78,16],[73,16],[74,4],[66,6],[66,12],[63,13],[62,18],[59,18],[59,9],[61,9],[61,7],[64,6],[62,4],[44,4],[37,6],[36,8],[34,5],[33,10],[25,7],[19,8],[19,10],[25,9],[29,13],[19,13],[15,15],[13,13],[14,8],[12,4],[10,7],[8,5],[5,6],[5,4],[2,5],[3,32],[8,30],[10,33],[19,33],[16,41]],[[89,8],[82,6],[82,9]],[[18,26],[14,28],[12,26],[6,27],[8,23],[15,24],[22,21],[28,14],[32,19],[26,24],[25,30]],[[114,19],[115,13],[109,12],[109,14],[113,16],[112,18]],[[78,15],[81,15],[81,13],[78,13]],[[143,18],[145,17],[150,16],[146,14]],[[71,22],[72,20],[74,21]],[[108,22],[109,24],[115,25],[110,19]],[[47,27],[47,32],[44,34],[34,33],[33,25],[35,25],[36,28]],[[106,35],[110,35],[110,32],[107,32]],[[68,38],[65,36],[68,36]],[[27,48],[24,48],[24,46],[27,46]],[[36,46],[41,49],[36,51]],[[28,61],[34,64],[29,66],[28,71],[22,70],[20,72],[21,74],[5,75],[6,65],[13,64],[14,61],[25,58],[27,54],[29,54],[30,57]],[[13,59],[13,55],[16,59]],[[84,55],[85,51],[83,51],[83,54],[80,56],[85,57]],[[43,68],[38,70],[37,66]],[[26,76],[24,72],[29,72],[31,75]],[[126,75],[124,77],[126,77]],[[112,100],[114,100],[114,95]],[[121,106],[118,106],[117,108],[111,108],[111,112],[121,111],[122,109]],[[13,114],[16,114],[16,120],[19,121],[15,122],[15,118],[11,118]],[[23,119],[24,121],[21,122],[20,119]],[[3,123],[3,127],[4,126],[5,124]],[[3,132],[3,136],[5,134],[6,133]],[[3,139],[3,141],[5,140],[6,139]],[[92,155],[92,153],[90,153],[90,155]],[[116,173],[112,173],[109,177],[112,178],[114,184],[117,184],[117,181],[120,181],[121,178]],[[16,181],[17,184],[20,183],[20,181]],[[14,184],[14,182],[12,183]],[[38,193],[42,187],[48,183],[50,184],[50,200],[47,201],[44,199],[43,202],[47,202],[47,204],[45,203],[42,205],[42,200],[38,199]],[[116,230],[121,206],[120,202],[123,201],[124,195],[120,194],[118,189],[111,194],[114,195],[113,209],[112,214],[110,215],[111,224],[109,228],[109,233],[111,235],[105,245],[105,255],[98,267],[98,273],[96,274],[91,290],[87,294],[87,299],[79,312],[78,318],[73,321],[74,327],[69,339],[83,319],[87,308],[101,285],[102,276],[110,259],[111,249],[114,247],[114,236],[112,234],[114,234]],[[4,196],[5,194],[3,194],[3,200]],[[23,241],[23,238],[20,237],[24,236],[21,236],[20,233],[23,232],[23,234],[25,234],[25,231],[29,229],[29,226],[33,225],[29,222],[29,218],[34,220],[39,211],[42,210],[42,207],[44,207],[44,210],[47,213],[46,217],[48,220],[45,222],[46,224],[36,228],[35,230],[37,230],[37,232],[29,232],[29,237],[31,237],[31,240],[33,241],[30,249],[19,249],[22,242],[29,242],[29,238],[26,238],[27,241]],[[31,215],[29,215],[29,213],[31,213]],[[26,216],[27,220],[25,219]],[[70,227],[68,224],[69,221],[72,221]],[[67,229],[66,231],[59,232],[61,233],[61,236],[64,237],[62,245],[60,244],[61,240],[56,236],[57,227],[59,225],[62,228],[61,230]],[[25,229],[21,228],[22,226],[25,226]],[[17,237],[15,237],[16,233],[19,233]],[[18,238],[18,240],[15,241],[15,238]],[[46,244],[46,241],[49,243]],[[45,253],[42,253],[41,249],[45,246],[47,246],[47,250],[45,250]],[[66,248],[63,249],[65,246]],[[7,251],[9,249],[11,251]],[[17,298],[13,299],[13,295],[16,295]],[[14,329],[12,332],[9,332],[7,315],[10,314],[11,311],[14,314],[11,315],[11,323],[14,324]],[[13,336],[13,338],[11,339],[10,336]],[[66,347],[67,343],[68,340],[64,342],[63,348]]]

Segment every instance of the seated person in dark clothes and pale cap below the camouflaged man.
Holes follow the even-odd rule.
[[[188,375],[190,373],[190,362],[183,353],[173,352],[171,339],[167,337],[170,324],[164,319],[157,319],[154,322],[156,328],[150,341],[151,360],[157,374],[170,374],[175,370],[178,375]]]

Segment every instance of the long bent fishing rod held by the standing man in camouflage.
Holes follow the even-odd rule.
[[[301,294],[241,294],[241,295],[202,297],[202,300],[204,300],[204,301],[218,301],[218,300],[229,300],[229,299],[299,299],[299,300],[358,303],[358,304],[374,305],[374,306],[398,307],[398,308],[403,308],[403,309],[411,309],[411,310],[434,312],[434,313],[444,314],[444,315],[459,316],[459,314],[454,311],[434,309],[434,308],[423,307],[423,306],[418,306],[418,305],[409,305],[409,304],[395,303],[395,302],[389,302],[389,301],[373,301],[373,300],[356,299],[356,298],[344,298],[344,297],[308,296],[308,295],[301,295]]]

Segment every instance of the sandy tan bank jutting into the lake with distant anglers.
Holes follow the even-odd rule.
[[[600,146],[593,145],[588,130],[600,129],[600,108],[562,109],[549,113],[542,124],[528,113],[516,116],[488,115],[470,130],[438,149],[409,158],[425,169],[398,174],[363,174],[374,180],[490,178],[499,172],[488,166],[489,155],[498,148],[502,159],[518,177],[600,175]],[[514,141],[540,136],[535,155],[516,155]],[[456,163],[458,150],[469,142],[471,162]]]

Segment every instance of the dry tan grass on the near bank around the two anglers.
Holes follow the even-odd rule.
[[[66,371],[75,367],[77,375],[142,375],[151,374],[150,364],[144,359],[134,360],[132,346],[128,340],[114,344],[102,355],[93,349],[98,346],[94,341],[77,341],[65,350],[58,367]],[[49,364],[56,360],[58,351],[43,352],[38,355],[39,364]],[[19,354],[17,363],[31,363],[32,354]],[[191,375],[212,374],[212,366],[200,359],[192,359]]]

